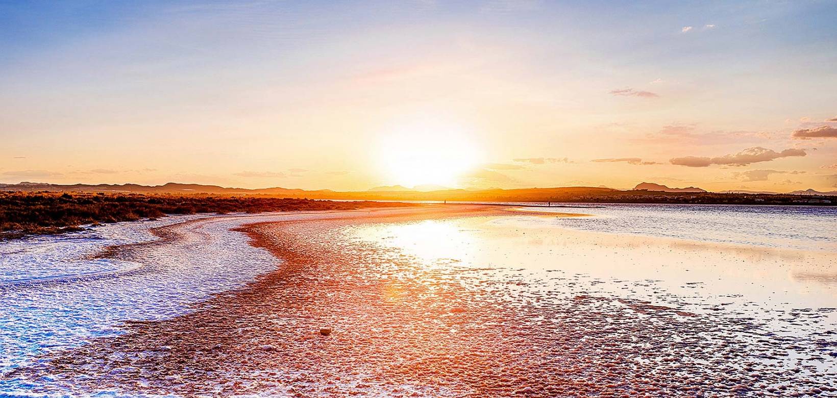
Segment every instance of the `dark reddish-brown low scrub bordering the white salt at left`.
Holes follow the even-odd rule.
[[[86,224],[136,221],[169,214],[352,210],[405,203],[332,202],[264,196],[175,196],[0,192],[0,239],[74,232]]]

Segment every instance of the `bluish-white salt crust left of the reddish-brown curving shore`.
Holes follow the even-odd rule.
[[[166,319],[211,293],[275,269],[277,260],[229,228],[278,216],[167,217],[0,245],[0,371],[85,339],[120,334],[129,320]],[[180,239],[95,258],[110,245],[154,242],[151,228]],[[0,388],[8,387],[8,380]]]

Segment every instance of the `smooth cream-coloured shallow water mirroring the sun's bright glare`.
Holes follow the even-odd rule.
[[[377,242],[428,266],[494,267],[576,275],[588,283],[566,294],[601,293],[689,310],[763,313],[837,307],[837,253],[696,242],[561,227],[576,218],[475,217],[360,227],[360,242]],[[665,289],[668,298],[658,293]],[[735,305],[732,305],[735,304]],[[829,312],[825,310],[824,312]],[[834,314],[824,317],[834,328]]]

